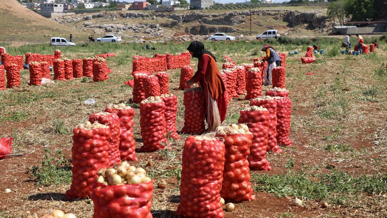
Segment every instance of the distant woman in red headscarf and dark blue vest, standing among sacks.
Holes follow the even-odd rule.
[[[272,85],[271,71],[274,67],[280,67],[282,61],[276,50],[274,50],[274,48],[269,44],[265,44],[262,47],[262,52],[266,52],[266,56],[263,61],[267,61],[263,85]]]

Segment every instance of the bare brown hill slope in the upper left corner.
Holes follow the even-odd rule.
[[[50,37],[44,35],[68,38],[70,33],[75,36],[75,42],[78,38],[87,38],[86,33],[40,16],[16,0],[0,1],[0,30],[2,43],[49,42]]]

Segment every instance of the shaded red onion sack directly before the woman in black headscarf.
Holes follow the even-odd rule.
[[[204,133],[204,91],[199,88],[187,88],[184,90],[184,126],[182,133]]]

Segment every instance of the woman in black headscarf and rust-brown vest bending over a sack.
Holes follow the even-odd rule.
[[[217,67],[216,57],[204,50],[203,43],[199,41],[192,42],[187,50],[192,57],[199,59],[197,71],[187,81],[187,87],[199,83],[199,86],[204,89],[205,119],[208,130],[215,131],[226,118],[227,111],[226,87]]]

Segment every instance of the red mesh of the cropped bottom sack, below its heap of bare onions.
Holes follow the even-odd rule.
[[[137,185],[95,183],[93,218],[152,218],[153,182]]]

